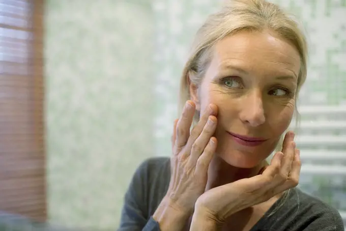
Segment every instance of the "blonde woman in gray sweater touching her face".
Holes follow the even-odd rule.
[[[285,131],[306,56],[297,23],[274,4],[235,0],[210,16],[182,75],[172,157],[137,169],[119,230],[343,231],[335,209],[295,189],[299,149]]]

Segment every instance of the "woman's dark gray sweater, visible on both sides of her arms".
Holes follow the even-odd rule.
[[[138,167],[125,195],[118,231],[160,230],[152,215],[168,189],[169,179],[168,158],[152,158]],[[344,231],[336,209],[298,189],[291,190],[283,206],[268,216],[280,201],[250,231]]]

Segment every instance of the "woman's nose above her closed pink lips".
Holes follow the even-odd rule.
[[[261,92],[251,92],[241,101],[240,119],[249,126],[260,126],[266,121]]]

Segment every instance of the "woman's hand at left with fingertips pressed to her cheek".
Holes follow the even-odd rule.
[[[217,107],[209,105],[190,133],[195,105],[188,100],[172,135],[171,178],[165,199],[176,210],[191,213],[197,198],[204,193],[208,167],[216,150],[213,137]]]

